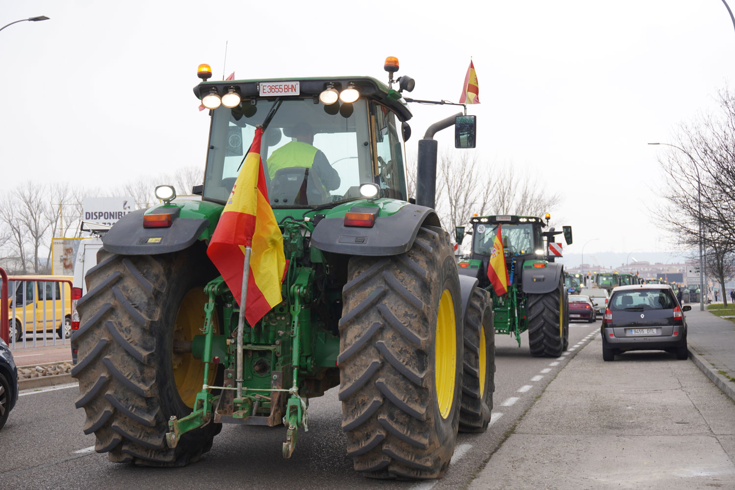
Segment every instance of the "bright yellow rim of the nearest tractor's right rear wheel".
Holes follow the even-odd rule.
[[[439,300],[437,313],[436,350],[434,352],[434,381],[437,385],[437,402],[442,419],[449,417],[454,399],[456,377],[456,324],[454,301],[451,292],[445,289]]]

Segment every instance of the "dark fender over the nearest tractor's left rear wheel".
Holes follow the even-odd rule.
[[[179,208],[168,208],[178,215]],[[190,247],[209,226],[209,220],[173,217],[168,228],[143,228],[146,209],[130,212],[102,237],[102,248],[124,255],[158,255]]]

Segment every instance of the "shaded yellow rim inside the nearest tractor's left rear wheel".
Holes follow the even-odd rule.
[[[204,327],[204,305],[207,303],[207,295],[201,288],[195,287],[189,290],[182,299],[179,313],[176,314],[176,323],[173,325],[173,342],[191,342],[194,336],[201,335]],[[216,311],[212,313],[212,321],[219,325]],[[172,346],[173,348],[173,346]],[[192,353],[173,353],[173,379],[176,381],[176,390],[179,397],[189,408],[194,408],[196,394],[201,391],[204,384],[204,362],[194,359]],[[217,370],[209,370],[207,384],[215,382]]]

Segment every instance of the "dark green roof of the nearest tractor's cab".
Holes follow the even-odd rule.
[[[194,95],[201,100],[212,88],[217,90],[220,96],[227,93],[230,87],[235,87],[239,91],[240,96],[244,99],[250,98],[266,98],[273,99],[275,96],[260,96],[259,84],[261,82],[298,82],[299,84],[299,95],[298,96],[284,96],[288,97],[304,97],[304,96],[319,96],[319,94],[326,89],[327,84],[333,84],[336,90],[343,90],[347,87],[347,84],[352,83],[354,87],[359,91],[361,97],[370,98],[371,100],[378,101],[384,104],[398,115],[401,121],[406,121],[412,118],[411,111],[409,111],[406,101],[400,94],[395,90],[390,90],[389,87],[378,79],[372,76],[310,76],[310,77],[292,77],[292,78],[278,78],[278,79],[253,79],[253,80],[214,80],[211,82],[201,82],[194,87]],[[389,93],[398,95],[398,100],[390,98]]]

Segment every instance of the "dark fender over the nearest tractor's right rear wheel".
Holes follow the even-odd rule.
[[[406,204],[390,216],[379,216],[373,228],[345,226],[343,217],[320,220],[311,245],[323,252],[361,256],[389,256],[411,249],[418,228],[441,226],[437,212],[426,206]]]

